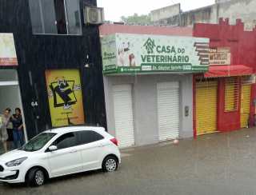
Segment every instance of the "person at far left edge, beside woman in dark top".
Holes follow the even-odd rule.
[[[10,121],[10,112],[8,109],[5,109],[4,113],[0,115],[0,140],[2,141],[3,149],[5,153],[7,152],[7,139],[8,139],[8,133],[7,133],[7,125]]]

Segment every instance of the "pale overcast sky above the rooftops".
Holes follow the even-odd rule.
[[[121,16],[130,16],[134,13],[149,14],[164,6],[181,3],[183,11],[193,10],[202,6],[214,4],[214,0],[97,0],[98,7],[104,7],[105,19],[119,22]]]

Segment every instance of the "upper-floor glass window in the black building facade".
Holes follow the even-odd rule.
[[[82,34],[79,0],[30,0],[33,34]]]

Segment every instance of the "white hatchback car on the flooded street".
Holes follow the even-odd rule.
[[[0,181],[43,185],[48,178],[89,170],[113,172],[121,163],[118,141],[102,127],[47,130],[0,156]]]

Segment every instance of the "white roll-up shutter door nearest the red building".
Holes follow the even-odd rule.
[[[179,129],[179,83],[158,83],[158,129],[159,140],[178,137]]]

